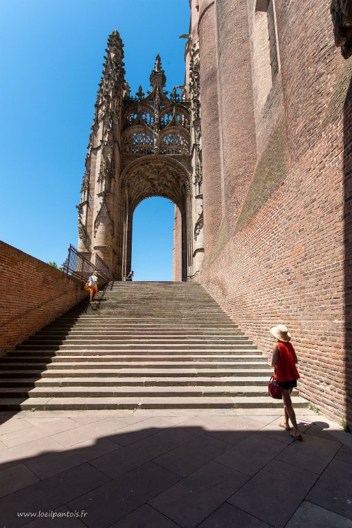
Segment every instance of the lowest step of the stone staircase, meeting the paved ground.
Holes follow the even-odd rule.
[[[307,408],[307,401],[300,396],[293,396],[292,403],[297,408]],[[14,410],[94,410],[94,409],[260,409],[270,407],[282,410],[282,401],[269,396],[253,398],[244,396],[222,397],[169,397],[155,398],[0,398],[1,411]]]

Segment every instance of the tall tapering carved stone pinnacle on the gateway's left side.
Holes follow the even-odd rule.
[[[114,202],[116,149],[121,135],[125,85],[124,45],[116,29],[108,36],[105,52],[86,156],[82,200],[78,206],[78,249],[93,261],[97,254],[110,266],[112,250],[106,240],[107,236],[109,240],[115,237],[117,221]]]

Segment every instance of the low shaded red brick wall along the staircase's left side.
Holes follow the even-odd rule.
[[[88,295],[80,280],[1,241],[0,276],[2,353]]]

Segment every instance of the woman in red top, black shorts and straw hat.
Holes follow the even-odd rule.
[[[288,328],[284,324],[272,326],[270,333],[277,339],[277,342],[272,344],[271,364],[274,367],[274,377],[282,387],[283,410],[285,412],[285,422],[279,422],[279,426],[290,431],[289,420],[291,420],[294,427],[291,436],[296,440],[302,440],[291,400],[292,389],[297,386],[297,379],[299,378],[296,368],[296,363],[298,363],[296,352],[290,343],[291,336],[288,333]]]

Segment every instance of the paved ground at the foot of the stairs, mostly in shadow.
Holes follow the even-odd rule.
[[[352,528],[352,435],[303,412],[0,413],[0,528]]]

